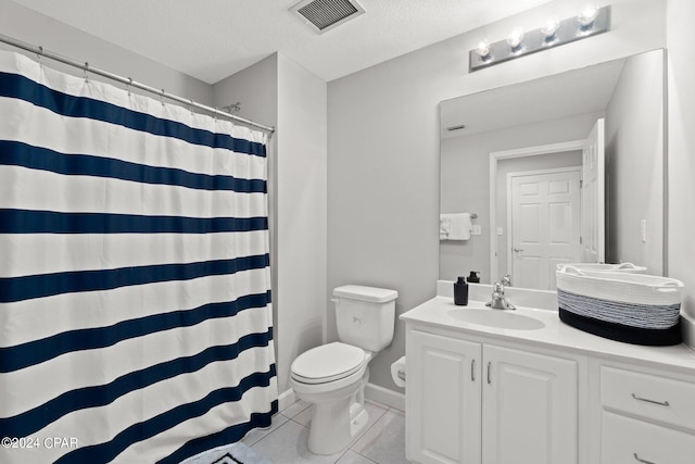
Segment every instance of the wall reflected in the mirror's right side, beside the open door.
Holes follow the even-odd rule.
[[[606,262],[655,275],[664,273],[664,55],[630,58],[606,114]]]

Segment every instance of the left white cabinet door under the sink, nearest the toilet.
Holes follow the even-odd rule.
[[[406,450],[418,463],[480,464],[481,346],[408,333]]]

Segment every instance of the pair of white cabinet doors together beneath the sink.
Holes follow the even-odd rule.
[[[576,360],[421,327],[406,343],[410,461],[577,463]]]

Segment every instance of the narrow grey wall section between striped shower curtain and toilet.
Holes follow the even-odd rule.
[[[278,388],[321,344],[326,314],[326,83],[278,58]]]

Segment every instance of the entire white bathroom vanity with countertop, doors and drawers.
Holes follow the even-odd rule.
[[[561,323],[547,292],[511,288],[517,311],[493,312],[482,301],[489,293],[471,293],[460,308],[452,290],[453,283],[438,283],[435,298],[400,316],[408,460],[695,464],[688,347],[643,347],[578,330]],[[521,324],[527,318],[540,326]]]

